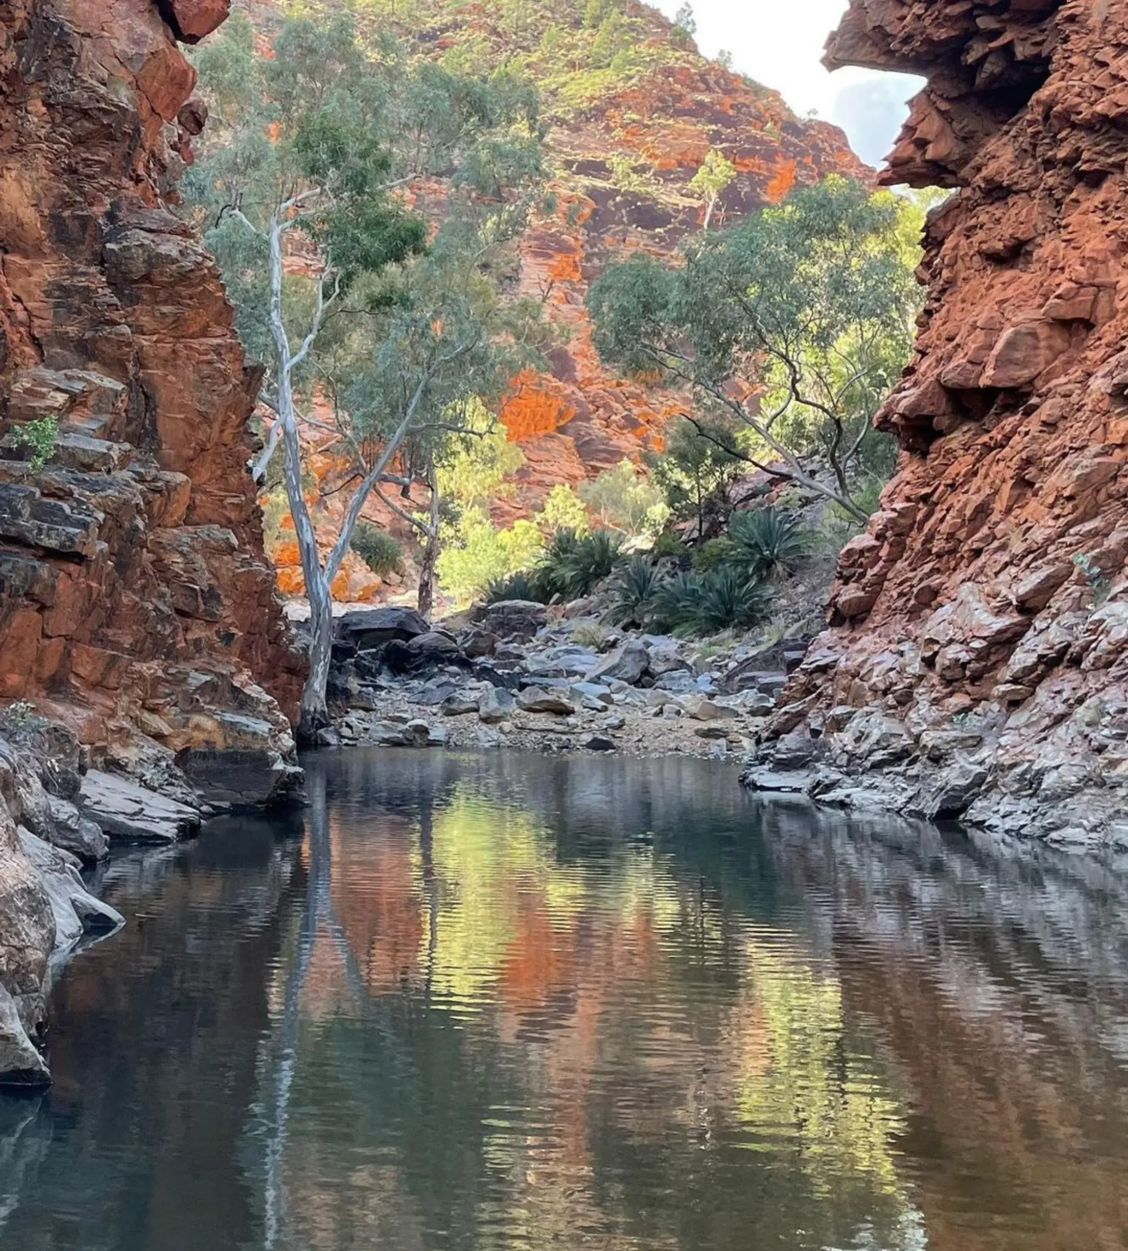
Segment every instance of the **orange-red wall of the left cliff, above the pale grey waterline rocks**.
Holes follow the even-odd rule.
[[[164,6],[185,38],[225,10]],[[103,756],[276,746],[301,663],[245,468],[258,375],[165,206],[194,71],[151,0],[15,0],[0,64],[0,696]]]

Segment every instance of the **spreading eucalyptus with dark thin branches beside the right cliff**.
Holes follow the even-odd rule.
[[[687,414],[725,457],[865,520],[853,493],[873,418],[909,357],[920,306],[904,219],[919,210],[839,176],[592,286],[600,355],[697,393]],[[734,432],[724,433],[725,424]],[[820,453],[833,483],[803,457]]]

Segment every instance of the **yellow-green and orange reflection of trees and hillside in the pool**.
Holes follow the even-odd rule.
[[[430,781],[365,827],[311,771],[268,1246],[917,1245],[895,1108],[793,936],[749,942],[648,842],[561,854],[607,839],[590,793],[550,828],[505,779]]]

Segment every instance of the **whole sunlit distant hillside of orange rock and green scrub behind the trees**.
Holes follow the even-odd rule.
[[[300,9],[316,16],[340,5]],[[263,46],[294,11],[275,0],[236,0],[235,10]],[[496,523],[539,509],[553,487],[590,482],[624,459],[638,463],[685,409],[682,389],[600,360],[587,298],[610,263],[638,250],[673,255],[703,226],[732,225],[828,173],[868,174],[837,128],[797,118],[725,58],[702,56],[688,14],[684,25],[672,24],[634,0],[361,0],[351,11],[379,55],[479,81],[510,75],[539,94],[544,194],[515,240],[504,283],[509,295],[535,305],[546,333],[538,358],[498,399],[520,457],[509,463],[513,489],[493,493]],[[443,211],[444,173],[411,184],[411,199],[428,211]],[[348,458],[336,455],[331,413],[316,402],[311,409],[306,435],[324,484],[316,510],[331,532]],[[268,515],[278,510],[268,503]],[[413,545],[411,528],[379,499],[366,515]],[[281,584],[299,589],[295,545],[285,527],[274,533]],[[394,584],[398,575],[388,572]],[[374,589],[373,575],[350,557],[335,593],[361,598]]]

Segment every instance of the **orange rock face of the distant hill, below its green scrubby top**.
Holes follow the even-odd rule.
[[[687,397],[603,367],[585,299],[608,264],[640,248],[673,254],[700,229],[705,206],[689,183],[710,149],[738,170],[715,210],[718,224],[828,173],[869,176],[840,130],[798,120],[775,93],[695,55],[555,118],[548,143],[565,175],[551,188],[555,215],[534,221],[521,240],[520,283],[544,301],[563,342],[543,377],[515,380],[501,413],[528,460],[519,498],[529,508],[555,483],[637,460],[684,412]]]

